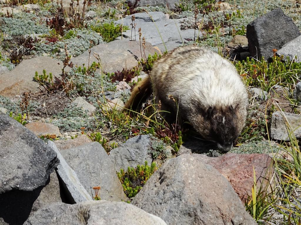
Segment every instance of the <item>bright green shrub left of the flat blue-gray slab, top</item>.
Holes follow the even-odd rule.
[[[90,27],[93,31],[99,33],[105,42],[114,41],[117,37],[121,35],[121,29],[124,31],[128,30],[127,26],[115,25],[113,22],[104,23],[102,25],[91,25]]]

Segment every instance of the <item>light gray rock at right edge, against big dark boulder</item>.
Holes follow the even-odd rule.
[[[284,55],[284,58],[287,56],[290,57],[290,60],[295,59],[296,62],[301,62],[301,35],[294,40],[286,43],[279,49],[276,54],[281,56]],[[295,58],[297,56],[297,58]]]

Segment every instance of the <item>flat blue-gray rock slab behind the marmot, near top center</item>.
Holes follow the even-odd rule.
[[[168,42],[168,44],[166,44],[167,50],[172,50],[181,45],[181,37],[183,41],[185,41],[185,38],[194,38],[194,29],[181,30],[180,22],[182,19],[167,19],[163,12],[150,12],[150,15],[155,21],[154,23],[147,13],[135,13],[133,15],[135,15],[136,18],[136,34],[134,29],[133,31],[131,30],[132,26],[130,24],[132,23],[132,15],[126,16],[123,20],[119,19],[116,21],[118,24],[123,23],[123,25],[130,27],[129,30],[123,32],[124,37],[139,41],[138,29],[141,28],[142,37],[145,37],[145,40],[150,42],[153,46]],[[163,50],[161,45],[158,47],[161,51]],[[165,51],[165,48],[163,51]]]

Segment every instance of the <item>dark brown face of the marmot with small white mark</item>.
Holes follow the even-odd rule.
[[[209,107],[207,119],[210,122],[209,139],[215,141],[220,150],[228,152],[240,132],[237,130],[237,116],[233,106],[222,109]]]

